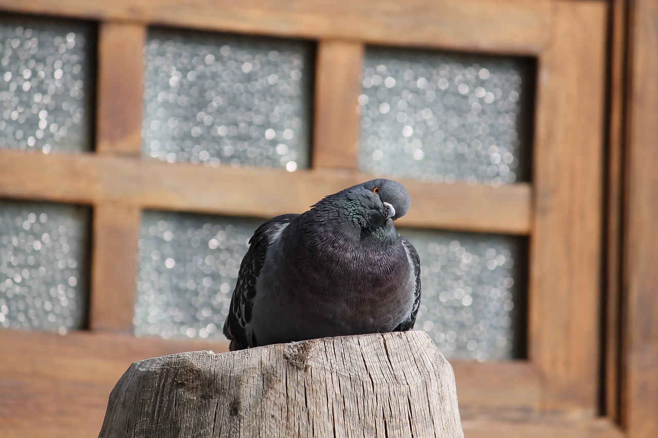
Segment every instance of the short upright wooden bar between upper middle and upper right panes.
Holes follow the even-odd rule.
[[[315,74],[313,168],[356,170],[363,44],[320,41]],[[339,91],[340,90],[340,91]]]

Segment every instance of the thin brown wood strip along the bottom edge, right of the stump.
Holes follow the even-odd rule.
[[[569,421],[564,418],[505,420],[464,420],[468,438],[623,438],[620,429],[607,419]]]

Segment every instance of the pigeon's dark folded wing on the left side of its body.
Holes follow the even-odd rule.
[[[276,244],[284,228],[297,216],[299,215],[276,216],[261,225],[249,239],[249,249],[240,264],[238,283],[224,322],[224,335],[231,341],[231,351],[258,346],[251,329],[251,308],[257,293],[256,281],[265,264],[268,248]]]

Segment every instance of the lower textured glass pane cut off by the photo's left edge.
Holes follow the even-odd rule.
[[[0,201],[0,327],[84,326],[89,210]]]

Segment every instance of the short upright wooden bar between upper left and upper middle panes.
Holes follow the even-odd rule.
[[[145,38],[141,24],[100,25],[97,153],[139,155]]]

